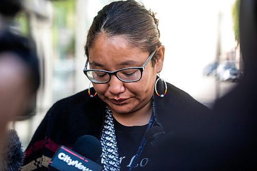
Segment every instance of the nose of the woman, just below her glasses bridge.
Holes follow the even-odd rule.
[[[119,94],[125,91],[124,83],[120,81],[115,75],[111,76],[109,81],[109,92],[112,94]]]

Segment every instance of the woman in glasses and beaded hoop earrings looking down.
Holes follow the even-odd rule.
[[[164,59],[159,37],[155,14],[135,1],[100,10],[85,45],[84,73],[94,90],[51,107],[26,150],[24,170],[47,168],[60,145],[72,148],[83,135],[100,140],[105,170],[150,170],[154,126],[162,134],[199,135],[209,110],[157,77]]]

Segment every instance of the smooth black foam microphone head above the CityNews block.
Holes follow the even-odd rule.
[[[102,154],[102,145],[94,136],[82,136],[74,144],[72,150],[80,155],[97,162]]]

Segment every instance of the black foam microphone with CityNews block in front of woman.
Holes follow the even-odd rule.
[[[48,167],[51,171],[101,171],[98,164],[102,154],[100,141],[94,136],[82,136],[74,144],[73,150],[60,146]]]

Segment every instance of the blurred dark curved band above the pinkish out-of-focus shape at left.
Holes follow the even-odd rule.
[[[3,30],[0,33],[0,53],[2,52],[13,52],[24,62],[30,72],[29,80],[34,93],[40,84],[39,60],[34,42],[8,29]]]

